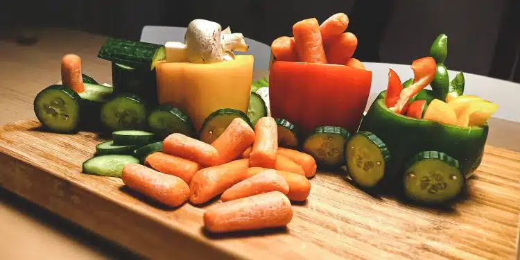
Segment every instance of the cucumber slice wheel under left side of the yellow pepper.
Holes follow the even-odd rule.
[[[196,130],[187,114],[171,105],[159,105],[148,116],[148,125],[159,137],[173,133],[181,133],[189,137],[195,136]]]

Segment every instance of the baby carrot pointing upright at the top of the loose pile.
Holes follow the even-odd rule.
[[[253,149],[249,156],[251,166],[273,168],[276,163],[278,150],[278,126],[270,116],[264,116],[254,125]]]

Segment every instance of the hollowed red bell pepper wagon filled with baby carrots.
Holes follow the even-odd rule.
[[[339,64],[275,61],[269,73],[271,115],[304,135],[323,125],[354,133],[365,111],[372,71]]]

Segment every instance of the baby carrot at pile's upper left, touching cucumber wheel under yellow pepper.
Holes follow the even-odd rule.
[[[198,162],[202,166],[214,166],[220,162],[216,148],[203,141],[179,133],[166,137],[162,146],[164,153]]]

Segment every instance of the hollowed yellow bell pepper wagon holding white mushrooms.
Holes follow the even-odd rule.
[[[157,98],[188,114],[200,130],[211,112],[234,108],[248,112],[253,56],[236,55],[235,60],[195,64],[157,62]]]

